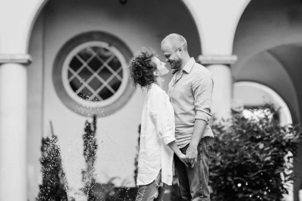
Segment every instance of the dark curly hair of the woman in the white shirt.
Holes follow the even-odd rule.
[[[135,88],[137,85],[143,88],[154,82],[153,72],[156,69],[156,64],[152,61],[152,57],[158,57],[155,50],[143,47],[130,60],[130,76]]]

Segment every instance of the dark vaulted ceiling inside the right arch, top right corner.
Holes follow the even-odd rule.
[[[301,11],[300,3],[295,0],[251,1],[236,28],[233,51],[238,62],[234,69],[262,51],[302,43]]]

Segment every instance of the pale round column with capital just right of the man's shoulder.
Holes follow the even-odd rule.
[[[237,61],[237,56],[200,55],[198,60],[209,69],[214,80],[212,114],[218,119],[230,118],[233,99],[231,64]]]

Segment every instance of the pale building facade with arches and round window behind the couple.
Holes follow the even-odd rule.
[[[143,46],[164,60],[160,44],[170,33],[183,35],[190,55],[211,71],[215,115],[271,102],[281,107],[281,123],[299,123],[301,25],[299,0],[1,1],[0,200],[35,199],[41,139],[52,132],[70,187],[82,187],[82,135],[93,114],[97,180],[118,176],[134,185],[144,91],[134,91],[127,63]],[[294,172],[298,200],[299,162]]]

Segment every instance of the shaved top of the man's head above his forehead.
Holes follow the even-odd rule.
[[[179,34],[169,34],[163,41],[162,47],[173,47],[177,49],[181,47],[184,51],[188,50],[188,45],[186,39]]]

